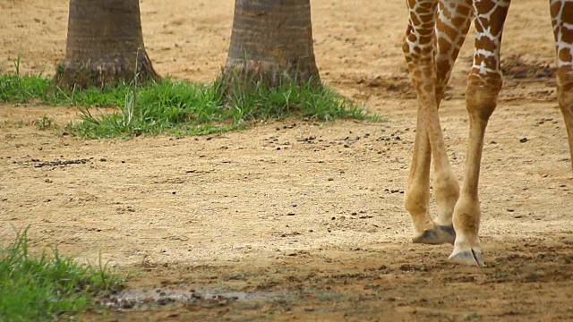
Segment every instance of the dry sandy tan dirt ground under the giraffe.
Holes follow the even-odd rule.
[[[80,140],[38,130],[73,107],[0,106],[0,238],[30,225],[35,250],[133,272],[85,320],[572,320],[573,180],[555,100],[546,1],[509,12],[507,80],[483,157],[487,267],[410,242],[402,206],[415,100],[403,1],[312,0],[321,77],[384,123],[296,120],[177,140]],[[212,80],[225,63],[232,0],[142,0],[155,67]],[[50,74],[64,56],[67,2],[0,0],[0,68]],[[458,174],[471,42],[442,126]],[[46,162],[83,160],[78,164]],[[140,299],[141,301],[139,301]],[[136,301],[138,300],[138,301]],[[145,304],[141,304],[145,302]],[[132,309],[129,309],[132,308]]]

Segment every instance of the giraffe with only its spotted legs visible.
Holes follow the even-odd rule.
[[[414,154],[404,204],[417,232],[413,242],[452,243],[449,260],[483,266],[478,237],[478,181],[483,138],[501,89],[500,44],[510,0],[406,0],[403,50],[417,92]],[[557,96],[573,169],[573,0],[550,0],[557,53]],[[438,109],[449,75],[475,23],[474,63],[466,86],[469,139],[461,186],[449,165]],[[430,171],[437,215],[429,214]]]

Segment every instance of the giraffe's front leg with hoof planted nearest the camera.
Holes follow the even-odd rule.
[[[482,160],[483,137],[488,120],[497,106],[501,89],[500,44],[509,0],[475,2],[475,54],[466,89],[469,114],[469,140],[464,182],[456,208],[456,241],[449,259],[453,262],[483,266],[478,238],[480,205],[478,182]]]

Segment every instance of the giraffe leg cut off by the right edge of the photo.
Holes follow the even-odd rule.
[[[573,1],[552,0],[550,5],[557,49],[557,97],[567,127],[573,170]]]

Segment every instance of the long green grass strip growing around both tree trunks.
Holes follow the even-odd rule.
[[[342,97],[315,81],[302,85],[285,82],[269,88],[252,82],[241,90],[210,83],[173,81],[169,78],[145,86],[120,83],[106,89],[55,88],[39,75],[0,75],[0,102],[38,102],[52,106],[78,106],[81,122],[66,131],[92,139],[132,137],[140,134],[177,136],[209,134],[242,128],[261,119],[301,117],[318,122],[337,118],[380,121],[364,106]],[[91,107],[113,107],[94,112]],[[51,124],[50,124],[51,125]]]

